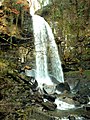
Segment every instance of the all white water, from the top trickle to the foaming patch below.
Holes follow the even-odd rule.
[[[31,0],[27,1],[29,2],[29,5],[31,5]],[[35,39],[36,70],[26,70],[26,75],[35,77],[38,82],[38,87],[41,88],[42,93],[48,93],[48,95],[54,93],[58,94],[57,84],[60,85],[60,82],[64,82],[58,48],[49,24],[43,17],[34,14],[34,5],[35,4],[33,3],[30,6],[30,14],[32,15],[33,33]],[[71,101],[71,103],[68,101]],[[66,101],[62,97],[56,98],[55,104],[57,105],[57,109],[60,110],[75,108],[73,99],[68,97]]]

